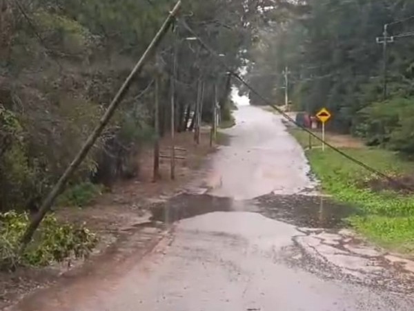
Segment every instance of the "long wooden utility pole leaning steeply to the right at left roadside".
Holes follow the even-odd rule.
[[[90,151],[92,146],[95,144],[96,140],[99,138],[99,135],[101,135],[103,129],[105,129],[106,124],[108,124],[112,115],[115,113],[115,110],[117,109],[121,101],[124,99],[130,84],[134,80],[135,75],[137,75],[137,73],[141,71],[142,67],[147,62],[152,52],[154,52],[159,42],[166,34],[166,30],[168,30],[168,28],[170,27],[170,23],[175,18],[175,15],[177,15],[177,12],[180,6],[181,6],[181,0],[179,0],[175,4],[174,8],[171,10],[170,14],[168,15],[168,17],[162,24],[161,28],[159,28],[157,34],[152,39],[150,45],[146,48],[144,54],[141,56],[137,64],[135,64],[134,68],[132,68],[130,75],[128,75],[124,84],[122,84],[121,88],[119,88],[119,91],[113,98],[112,102],[110,102],[110,105],[108,106],[108,109],[106,110],[105,114],[101,117],[99,124],[96,126],[94,131],[89,135],[88,139],[83,144],[81,150],[79,150],[79,152],[77,153],[75,158],[72,160],[70,165],[66,168],[63,175],[59,178],[55,186],[52,188],[52,190],[50,190],[48,196],[43,201],[39,211],[37,212],[36,215],[34,215],[34,217],[32,218],[32,221],[29,223],[28,227],[26,228],[26,232],[23,234],[21,238],[21,247],[20,247],[21,253],[24,252],[28,243],[30,243],[30,241],[32,240],[32,236],[34,232],[36,231],[37,227],[39,227],[41,220],[43,220],[44,216],[46,216],[46,213],[52,207],[53,202],[55,202],[57,196],[59,196],[61,191],[63,191],[69,178],[72,176],[75,170],[79,167],[81,162],[86,158],[86,156],[88,155],[88,152]]]

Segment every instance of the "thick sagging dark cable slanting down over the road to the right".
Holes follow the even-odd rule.
[[[316,135],[312,131],[309,131],[308,129],[306,129],[301,124],[297,123],[295,120],[293,120],[292,117],[290,117],[287,113],[285,113],[284,111],[282,111],[282,109],[279,109],[279,107],[275,106],[270,100],[266,99],[266,97],[262,96],[262,94],[260,94],[259,92],[257,92],[255,90],[255,88],[253,88],[252,86],[250,86],[250,84],[248,84],[246,81],[244,81],[244,79],[238,73],[236,73],[234,70],[232,70],[230,68],[230,66],[228,66],[226,64],[226,62],[224,62],[224,60],[221,59],[221,57],[219,57],[219,53],[217,53],[215,50],[213,50],[213,48],[210,48],[210,46],[208,46],[208,44],[206,44],[204,42],[204,40],[201,39],[199,37],[199,35],[197,35],[197,33],[192,28],[190,28],[190,26],[188,26],[188,24],[186,23],[186,21],[184,21],[183,19],[179,19],[179,21],[181,21],[181,23],[183,24],[184,28],[186,28],[186,30],[188,30],[194,37],[197,37],[197,39],[199,40],[201,46],[203,46],[204,48],[206,48],[206,50],[208,50],[208,52],[211,53],[212,55],[215,55],[215,57],[217,58],[217,61],[219,63],[221,63],[221,65],[223,65],[228,70],[228,72],[231,75],[233,75],[234,77],[236,77],[237,79],[239,79],[239,81],[242,82],[242,84],[244,84],[244,86],[246,86],[251,92],[255,93],[255,95],[257,95],[266,104],[268,104],[269,106],[271,106],[278,113],[280,113],[283,117],[285,117],[286,120],[288,120],[289,122],[295,124],[297,127],[299,127],[299,129],[302,129],[302,131],[306,131],[309,135],[313,136],[316,140],[319,140],[319,142],[323,142],[324,144],[326,144],[326,146],[328,146],[329,148],[333,149],[333,151],[339,153],[341,156],[344,156],[344,158],[347,158],[348,160],[351,160],[355,164],[358,164],[360,167],[363,167],[367,171],[370,171],[371,173],[375,173],[377,176],[380,176],[382,178],[385,178],[389,182],[392,182],[395,185],[399,185],[400,187],[402,187],[404,189],[410,189],[410,190],[412,190],[411,187],[409,187],[408,185],[404,185],[402,182],[399,182],[398,180],[395,180],[394,178],[391,178],[390,176],[386,175],[385,173],[382,173],[381,171],[378,171],[377,169],[374,169],[373,167],[370,167],[368,164],[365,164],[364,162],[362,162],[360,160],[357,160],[356,158],[353,158],[352,156],[349,156],[347,153],[345,153],[344,151],[338,149],[337,147],[334,147],[332,144],[329,144],[328,142],[324,142],[324,140],[322,140],[322,138],[319,138],[318,135]]]

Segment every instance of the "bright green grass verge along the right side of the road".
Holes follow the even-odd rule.
[[[303,147],[308,147],[307,133],[297,129],[291,133]],[[391,176],[414,171],[414,162],[402,160],[385,149],[364,147],[342,151]],[[414,252],[414,194],[369,189],[364,186],[364,181],[376,176],[331,149],[325,152],[322,149],[307,150],[306,156],[321,182],[322,191],[361,211],[359,216],[348,218],[357,232],[388,249]]]

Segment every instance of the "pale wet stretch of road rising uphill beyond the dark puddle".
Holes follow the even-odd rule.
[[[231,145],[213,159],[212,194],[246,199],[271,191],[297,194],[314,186],[302,148],[280,117],[249,106],[236,117],[239,123],[226,131]]]

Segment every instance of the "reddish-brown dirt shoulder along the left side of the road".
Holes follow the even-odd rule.
[[[90,270],[112,272],[113,266],[126,263],[134,254],[145,254],[165,234],[164,228],[150,223],[152,202],[166,200],[188,187],[202,187],[210,147],[209,133],[201,133],[199,145],[193,133],[176,135],[175,180],[170,180],[170,158],[160,159],[161,179],[152,182],[153,151],[148,148],[139,159],[139,176],[118,182],[110,193],[103,194],[89,207],[66,207],[56,212],[70,223],[85,223],[99,236],[99,245],[86,261],[71,261],[39,269],[21,268],[14,273],[0,272],[0,309],[22,296],[55,283],[67,283],[73,276]],[[170,141],[161,140],[161,155],[168,156]],[[133,237],[133,238],[131,238]],[[96,274],[99,275],[99,274]],[[66,284],[67,285],[67,284]]]

